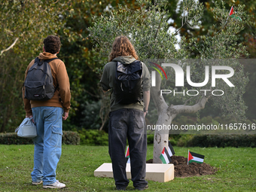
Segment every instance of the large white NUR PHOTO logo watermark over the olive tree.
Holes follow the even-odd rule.
[[[166,71],[163,69],[165,68],[168,70],[168,68],[173,69],[175,72],[175,87],[184,87],[184,69],[178,64],[174,63],[162,63],[162,64],[157,64],[156,62],[149,62],[153,64],[154,66],[149,66],[152,69],[154,69],[151,72],[151,86],[156,87],[156,72],[160,74],[161,79],[163,80],[163,75],[165,76],[166,80],[168,80],[169,76],[166,75]],[[200,93],[206,96],[207,93],[212,93],[213,96],[223,96],[224,95],[224,90],[212,90],[212,88],[216,88],[216,81],[224,81],[229,87],[235,87],[234,84],[231,83],[229,78],[233,77],[234,75],[234,70],[230,66],[204,66],[204,78],[203,74],[202,79],[203,81],[201,82],[194,82],[192,81],[192,72],[190,70],[190,66],[185,67],[186,72],[186,84],[188,87],[204,87],[206,84],[209,84],[209,80],[211,81],[210,83],[210,89],[194,89],[194,90],[182,90],[182,91],[177,91],[176,90],[160,90],[160,95],[162,96],[163,94],[169,94],[173,93],[173,96],[177,94],[182,94],[185,96],[197,96]],[[210,73],[211,69],[211,73]],[[162,73],[163,72],[163,75]],[[218,73],[221,72],[221,73]],[[211,75],[211,76],[210,76]],[[173,78],[169,78],[169,80]]]

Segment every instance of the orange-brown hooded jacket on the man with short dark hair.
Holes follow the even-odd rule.
[[[38,56],[39,59],[53,59],[56,57],[57,56],[55,54],[47,52],[40,53]],[[29,66],[26,69],[25,79],[30,67],[32,67],[34,63],[35,59],[33,59],[32,62],[29,63]],[[32,115],[31,108],[41,106],[64,108],[65,112],[69,112],[71,94],[69,76],[66,71],[66,66],[64,62],[62,62],[60,59],[54,59],[53,61],[49,62],[49,65],[51,73],[53,75],[53,86],[56,87],[57,85],[59,85],[59,87],[55,91],[53,98],[47,101],[35,101],[24,99],[25,91],[23,90],[23,102],[25,105],[26,116]]]

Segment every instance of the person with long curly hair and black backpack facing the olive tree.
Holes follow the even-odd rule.
[[[103,92],[111,90],[108,152],[116,188],[126,190],[129,184],[124,155],[128,139],[133,186],[138,190],[145,190],[148,188],[148,181],[145,181],[145,115],[148,112],[151,82],[147,66],[139,61],[133,44],[126,36],[114,39],[100,84]]]

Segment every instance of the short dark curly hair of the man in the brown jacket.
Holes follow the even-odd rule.
[[[59,37],[55,35],[49,35],[47,38],[44,38],[44,50],[47,53],[58,53],[60,49],[60,40]]]

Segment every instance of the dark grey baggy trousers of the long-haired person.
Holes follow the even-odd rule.
[[[143,111],[133,108],[122,108],[111,111],[108,126],[108,152],[112,160],[114,181],[117,187],[126,187],[126,138],[130,148],[130,163],[133,186],[143,188],[145,181],[147,134]],[[130,166],[130,165],[127,165]]]

